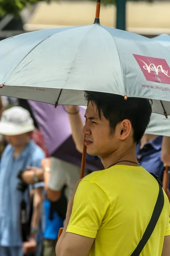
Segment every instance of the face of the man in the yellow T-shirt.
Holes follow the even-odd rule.
[[[116,136],[116,129],[111,134],[109,121],[105,119],[101,112],[101,118],[95,104],[88,105],[85,116],[88,121],[85,124],[82,133],[85,135],[85,145],[87,152],[101,158],[108,157],[119,147],[119,139]]]

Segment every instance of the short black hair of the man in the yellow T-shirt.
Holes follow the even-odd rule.
[[[139,143],[150,122],[152,100],[132,97],[127,97],[125,100],[121,95],[93,91],[85,91],[85,99],[96,105],[99,117],[101,111],[103,112],[109,121],[111,134],[119,122],[129,119],[133,128],[134,142]]]

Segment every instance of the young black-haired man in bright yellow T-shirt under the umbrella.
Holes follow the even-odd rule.
[[[136,159],[136,144],[150,121],[150,101],[109,93],[86,92],[87,152],[99,156],[105,170],[77,184],[57,256],[129,256],[149,224],[159,194],[156,179]],[[170,209],[164,208],[142,256],[170,253]],[[162,252],[163,248],[163,252]],[[162,253],[162,254],[161,254]]]

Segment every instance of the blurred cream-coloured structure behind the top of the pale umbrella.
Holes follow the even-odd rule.
[[[94,22],[96,3],[85,0],[59,0],[38,3],[23,26],[26,31],[67,26],[83,26]],[[170,34],[170,1],[127,1],[127,31],[153,37]],[[101,7],[101,23],[116,26],[116,6]]]

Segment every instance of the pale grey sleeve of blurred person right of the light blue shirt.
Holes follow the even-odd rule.
[[[66,184],[66,172],[62,164],[57,159],[51,157],[51,175],[48,182],[48,187],[54,191],[61,191]]]

